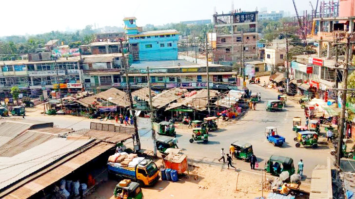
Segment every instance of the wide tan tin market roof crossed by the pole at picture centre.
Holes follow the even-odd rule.
[[[219,92],[210,90],[210,97],[215,97]],[[165,110],[175,109],[181,106],[191,107],[197,110],[206,110],[207,107],[207,89],[197,90],[196,94],[181,99],[180,102],[170,104]]]

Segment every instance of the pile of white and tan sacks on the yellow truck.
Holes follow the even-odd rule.
[[[137,154],[127,154],[125,152],[116,153],[108,158],[108,165],[115,167],[135,168],[138,163],[142,162],[144,158],[138,157]]]

